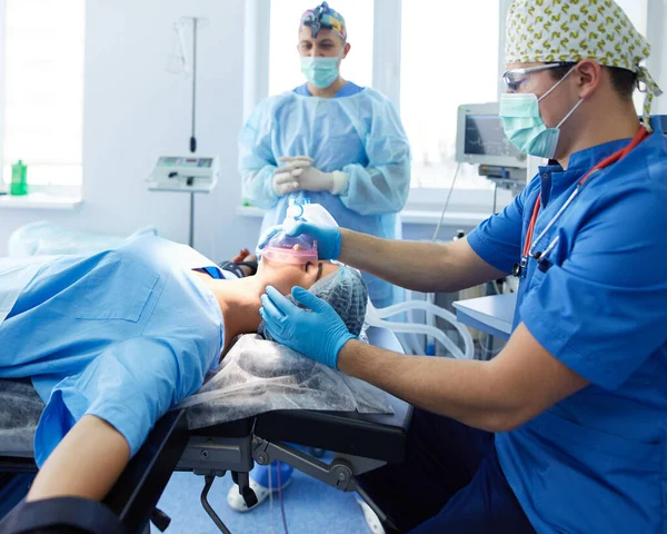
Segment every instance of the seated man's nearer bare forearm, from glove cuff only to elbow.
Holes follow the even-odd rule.
[[[406,356],[350,340],[339,353],[338,368],[475,428],[505,432],[515,426],[517,402],[494,379],[489,362]]]

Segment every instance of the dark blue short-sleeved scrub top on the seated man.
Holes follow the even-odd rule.
[[[524,192],[468,236],[488,264],[519,261],[597,162],[629,144],[540,167]],[[500,464],[538,532],[667,532],[667,140],[659,131],[593,176],[537,247],[558,235],[546,271],[529,261],[524,323],[590,385],[498,434]]]

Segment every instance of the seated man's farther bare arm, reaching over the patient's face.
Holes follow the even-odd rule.
[[[458,291],[505,274],[459,239],[447,245],[380,239],[340,229],[340,261],[385,280],[424,293]]]

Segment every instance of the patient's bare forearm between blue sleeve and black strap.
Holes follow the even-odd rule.
[[[101,501],[130,461],[130,447],[116,428],[84,415],[41,467],[27,501],[74,496]]]

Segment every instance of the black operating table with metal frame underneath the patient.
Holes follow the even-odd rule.
[[[394,334],[371,327],[369,342],[402,352]],[[230,531],[208,502],[216,477],[230,472],[246,503],[257,502],[249,486],[253,464],[280,461],[337,490],[357,492],[376,512],[387,533],[398,530],[358,485],[357,476],[385,464],[404,461],[411,407],[388,396],[392,415],[317,411],[275,411],[246,419],[189,431],[185,411],[172,411],[153,427],[107,496],[104,504],[128,533],[149,532],[152,522],[160,531],[169,517],[157,508],[171,474],[192,472],[203,476],[201,504],[218,528]],[[334,452],[326,464],[293,445]],[[0,492],[14,474],[34,473],[32,451],[7,451],[0,442]],[[0,517],[1,518],[1,517]]]

